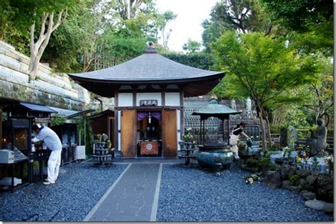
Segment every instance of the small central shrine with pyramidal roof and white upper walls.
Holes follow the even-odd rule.
[[[133,60],[69,77],[94,94],[114,97],[115,155],[176,158],[184,97],[208,94],[224,75],[181,65],[150,45]]]

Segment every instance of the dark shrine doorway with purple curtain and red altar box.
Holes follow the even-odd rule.
[[[161,111],[137,111],[137,157],[162,157]]]

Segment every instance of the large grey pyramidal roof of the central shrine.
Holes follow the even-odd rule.
[[[145,54],[120,65],[93,72],[69,74],[74,82],[100,96],[113,97],[121,86],[137,89],[139,86],[159,88],[177,87],[184,96],[207,94],[220,82],[225,72],[208,71],[182,65],[159,55],[154,47],[148,47]],[[169,87],[171,88],[171,87]]]

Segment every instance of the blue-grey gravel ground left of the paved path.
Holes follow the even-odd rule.
[[[0,220],[82,221],[126,167],[68,164],[55,185],[38,181],[1,194]]]

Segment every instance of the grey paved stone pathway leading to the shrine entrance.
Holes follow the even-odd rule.
[[[84,221],[155,221],[162,164],[131,163]]]

